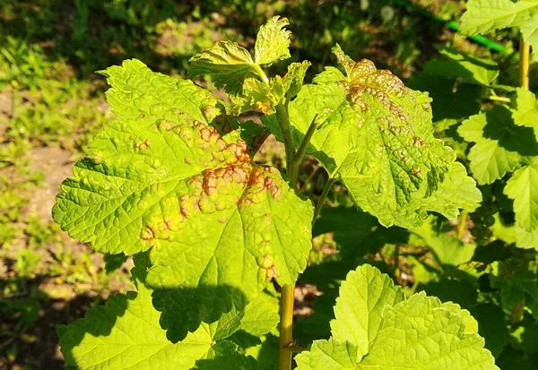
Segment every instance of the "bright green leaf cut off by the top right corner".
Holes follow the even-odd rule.
[[[519,27],[525,42],[538,49],[538,0],[469,0],[462,16],[468,35]],[[534,53],[536,57],[536,53]]]

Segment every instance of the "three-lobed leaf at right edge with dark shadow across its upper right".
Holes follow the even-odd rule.
[[[514,125],[508,108],[495,107],[469,117],[457,132],[467,142],[475,142],[468,159],[471,172],[481,184],[491,184],[519,167],[525,156],[534,156],[538,147],[530,128]]]

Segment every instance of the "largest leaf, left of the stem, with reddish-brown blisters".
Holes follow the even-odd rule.
[[[253,164],[239,133],[209,125],[209,92],[136,60],[104,73],[118,121],[61,186],[56,222],[102,253],[151,249],[152,288],[228,286],[248,298],[273,278],[295,281],[311,247],[311,202]]]

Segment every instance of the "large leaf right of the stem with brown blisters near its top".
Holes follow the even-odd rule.
[[[325,69],[290,104],[296,142],[316,119],[308,152],[385,226],[420,226],[427,211],[452,219],[461,208],[474,210],[482,196],[433,136],[428,95],[369,60],[334,51],[346,74]]]

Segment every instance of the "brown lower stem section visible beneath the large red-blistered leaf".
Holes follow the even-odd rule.
[[[293,357],[293,303],[295,300],[295,285],[284,285],[281,292],[281,314],[280,314],[280,357],[278,361],[279,370],[291,369],[291,358]]]

